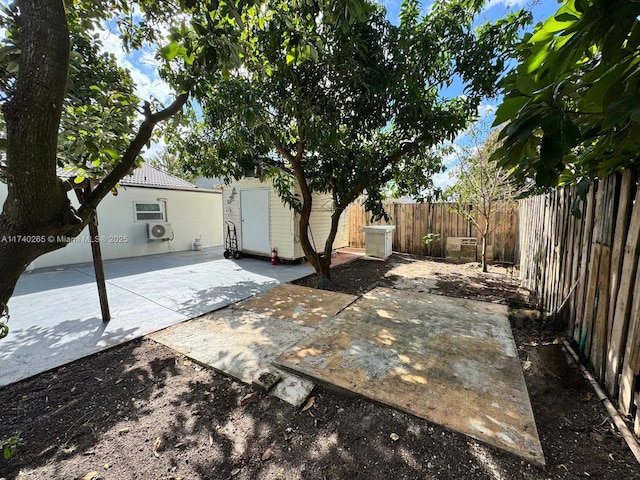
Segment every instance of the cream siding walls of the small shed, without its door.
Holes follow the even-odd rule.
[[[235,194],[233,193],[235,188]],[[259,178],[245,177],[226,185],[223,189],[222,208],[224,220],[235,223],[238,234],[238,248],[242,250],[242,222],[240,209],[240,195],[242,190],[268,188],[269,189],[269,236],[270,244],[278,250],[278,257],[294,260],[304,257],[300,246],[297,215],[282,203],[271,180],[260,181]],[[299,193],[299,192],[296,192]],[[311,212],[311,232],[319,250],[324,249],[324,242],[331,228],[332,199],[328,194],[314,195],[313,210]],[[226,234],[226,226],[225,226]],[[348,212],[343,213],[338,229],[334,248],[349,245]]]

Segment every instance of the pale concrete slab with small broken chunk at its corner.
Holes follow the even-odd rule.
[[[283,351],[313,333],[313,329],[243,309],[225,308],[156,332],[149,338],[198,363],[251,384],[273,369]],[[300,406],[313,383],[287,372],[270,392]]]

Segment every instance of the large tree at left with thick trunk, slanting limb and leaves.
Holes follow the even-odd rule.
[[[357,1],[336,2],[339,22],[348,20],[346,7]],[[9,32],[0,48],[6,126],[0,172],[8,189],[0,214],[0,318],[7,316],[7,302],[26,266],[80,234],[100,201],[142,161],[155,126],[177,114],[198,90],[203,73],[239,67],[251,46],[242,34],[244,24],[259,23],[262,3],[18,0],[0,9],[0,24]],[[286,10],[288,2],[276,8]],[[110,19],[117,21],[128,48],[145,42],[161,47],[160,72],[176,88],[170,105],[140,107],[131,98],[130,79],[98,53],[90,32]],[[137,127],[133,112],[140,118]],[[58,178],[58,166],[75,174],[74,183]],[[88,184],[91,193],[73,208],[67,190]]]

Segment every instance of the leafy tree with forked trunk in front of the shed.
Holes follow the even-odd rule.
[[[254,50],[244,68],[206,76],[208,88],[198,96],[205,123],[185,153],[202,145],[210,155],[187,163],[227,178],[259,163],[298,213],[300,242],[322,285],[349,203],[366,192],[367,210],[383,216],[388,181],[415,192],[430,186],[441,169],[432,147],[453,139],[480,99],[495,93],[509,45],[528,17],[514,14],[475,30],[482,3],[438,2],[422,16],[419,3],[408,0],[395,26],[382,7],[366,2],[350,10],[349,28],[334,21],[330,1],[296,2],[286,15],[271,9],[260,28],[247,32]],[[454,77],[466,95],[447,98],[442,91]],[[313,192],[330,193],[334,202],[320,252],[309,235]]]

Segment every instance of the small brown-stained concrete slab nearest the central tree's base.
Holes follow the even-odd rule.
[[[344,293],[285,284],[244,300],[236,306],[312,327],[337,315],[356,298]]]

